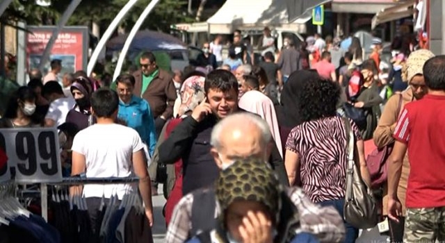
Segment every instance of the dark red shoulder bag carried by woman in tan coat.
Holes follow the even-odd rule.
[[[397,105],[397,116],[401,112],[403,97],[399,94]],[[387,181],[387,160],[394,147],[394,142],[383,146],[382,148],[374,149],[366,157],[366,165],[368,166],[369,174],[371,176],[371,187],[378,189],[383,183]]]

